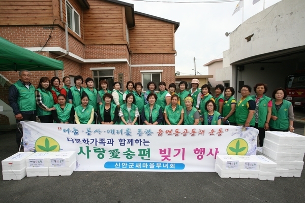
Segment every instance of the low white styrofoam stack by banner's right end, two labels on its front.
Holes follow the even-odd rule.
[[[217,155],[215,171],[221,178],[258,178],[259,162],[252,156]]]

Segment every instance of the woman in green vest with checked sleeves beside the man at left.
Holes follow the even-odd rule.
[[[40,78],[39,85],[35,91],[37,116],[42,123],[53,123],[52,110],[55,108],[51,93],[52,87],[48,77]]]

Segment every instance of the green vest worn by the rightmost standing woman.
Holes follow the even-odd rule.
[[[290,101],[283,99],[283,105],[279,109],[279,111],[277,111],[275,99],[272,100],[271,115],[277,116],[278,119],[275,121],[270,119],[270,122],[269,122],[270,127],[279,129],[279,130],[288,130],[288,128],[289,128],[288,109],[289,109],[290,105],[291,105]]]

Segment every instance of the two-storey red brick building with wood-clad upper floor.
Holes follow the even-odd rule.
[[[0,1],[0,36],[10,42],[64,62],[64,71],[33,71],[37,86],[43,76],[81,75],[112,83],[175,81],[174,33],[178,22],[134,11],[115,0]],[[0,72],[8,81],[18,73]],[[144,89],[144,90],[145,90]],[[0,85],[7,104],[8,86]],[[1,106],[1,104],[0,104]],[[1,112],[0,112],[1,113]],[[10,124],[0,115],[1,124]],[[1,126],[0,126],[1,128]]]

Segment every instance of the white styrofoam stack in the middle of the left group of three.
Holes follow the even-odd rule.
[[[49,176],[48,157],[56,152],[36,152],[26,158],[26,176]]]

